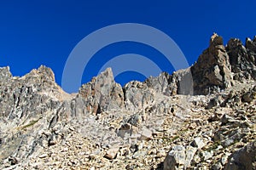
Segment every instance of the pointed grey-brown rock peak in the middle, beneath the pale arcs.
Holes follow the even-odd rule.
[[[87,111],[94,114],[124,107],[123,89],[114,82],[110,68],[93,77],[91,82],[83,84],[79,96],[85,100]]]

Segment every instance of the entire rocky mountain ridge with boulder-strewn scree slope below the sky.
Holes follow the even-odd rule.
[[[0,68],[1,169],[256,169],[256,37],[213,34],[194,65],[145,82],[110,68],[67,94],[42,65]]]

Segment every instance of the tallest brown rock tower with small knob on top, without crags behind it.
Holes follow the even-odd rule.
[[[199,56],[191,67],[194,80],[194,94],[209,94],[218,88],[231,86],[231,65],[229,55],[223,44],[223,38],[213,34],[209,48]]]

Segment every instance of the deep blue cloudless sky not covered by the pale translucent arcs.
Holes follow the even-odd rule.
[[[76,44],[93,31],[119,23],[140,23],[165,32],[192,65],[207,48],[212,32],[224,37],[224,42],[231,37],[243,42],[246,37],[253,38],[255,7],[254,0],[1,1],[0,66],[9,65],[14,76],[23,76],[39,65],[47,65],[61,85],[64,65]],[[165,65],[154,49],[136,42],[119,42],[102,48],[92,58],[82,82],[96,76],[101,67],[96,63],[102,58],[126,53],[159,56],[160,65]],[[165,67],[164,71],[173,69]],[[143,77],[125,72],[116,79],[124,84]]]

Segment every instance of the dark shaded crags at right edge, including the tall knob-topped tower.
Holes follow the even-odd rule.
[[[209,48],[191,67],[194,94],[209,94],[229,88],[233,80],[246,82],[256,76],[256,37],[241,40],[231,38],[224,47],[223,38],[214,33]]]

